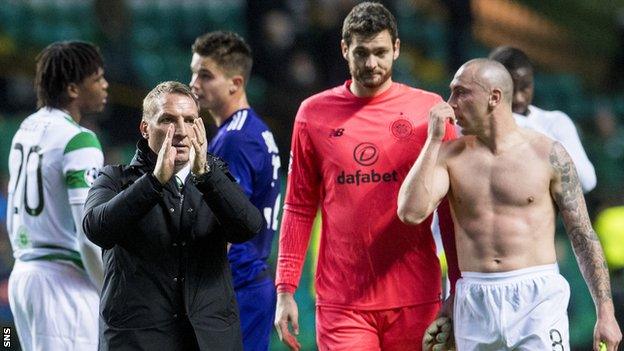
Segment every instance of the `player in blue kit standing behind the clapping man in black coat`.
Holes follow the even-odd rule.
[[[240,310],[246,351],[268,350],[275,314],[275,287],[267,258],[277,229],[280,203],[277,144],[267,125],[249,106],[245,86],[251,49],[231,32],[210,32],[193,44],[190,86],[218,131],[208,151],[223,158],[264,214],[266,225],[252,240],[230,247],[228,258]]]

